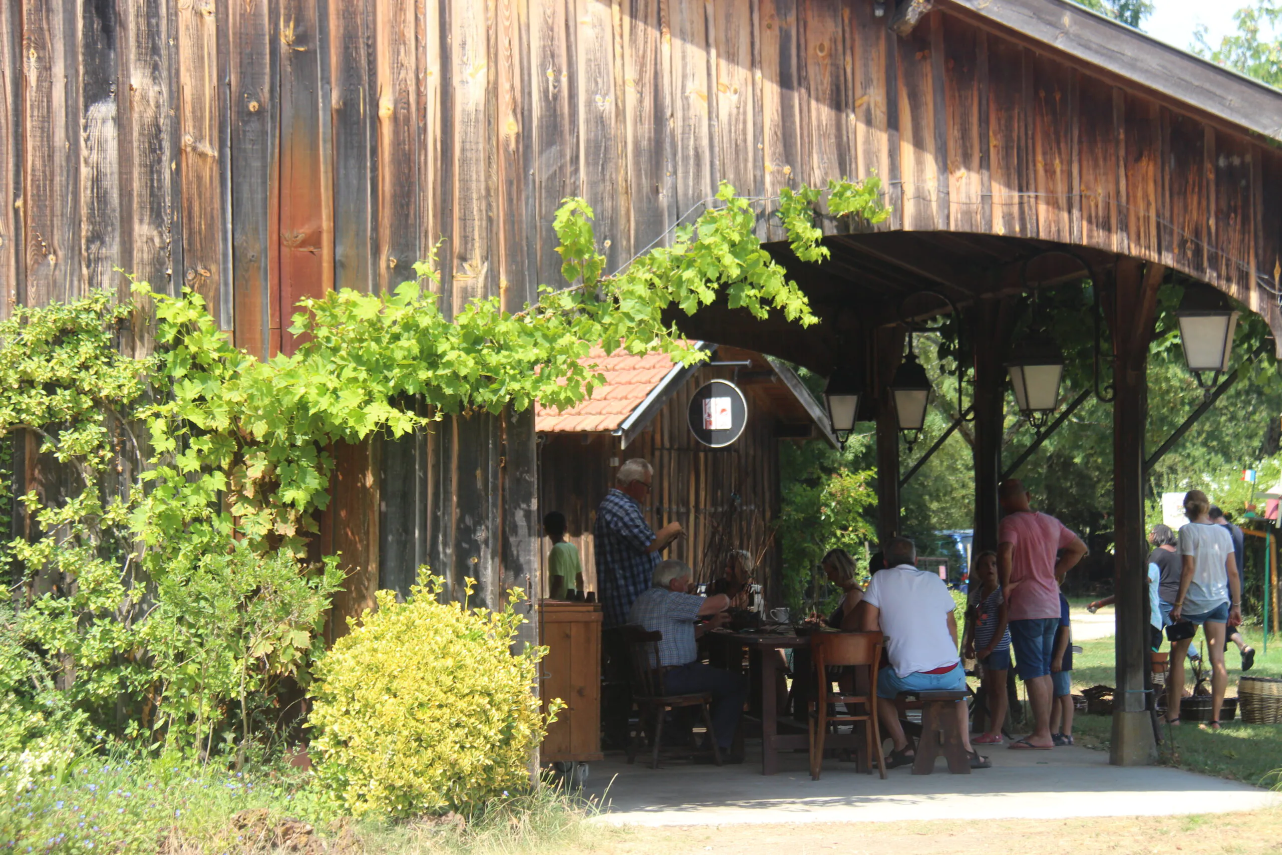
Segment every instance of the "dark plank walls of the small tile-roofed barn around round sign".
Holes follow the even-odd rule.
[[[699,579],[709,578],[705,567],[709,540],[715,527],[729,523],[724,542],[729,549],[762,551],[756,578],[777,583],[779,550],[767,532],[779,513],[779,415],[760,394],[745,385],[749,419],[740,438],[724,449],[709,449],[690,432],[687,409],[691,396],[713,378],[731,379],[727,368],[705,365],[677,390],[650,426],[626,449],[608,433],[545,433],[538,447],[538,506],[542,513],[559,510],[568,523],[567,540],[578,547],[583,582],[597,591],[592,527],[596,508],[614,486],[614,473],[629,458],[644,458],[654,467],[654,488],[642,502],[651,528],[659,531],[678,522],[686,537],[674,542],[664,558],[690,564]],[[727,508],[738,510],[728,514]],[[540,518],[541,519],[541,518]],[[540,574],[551,547],[538,546]],[[546,594],[546,591],[544,591]]]

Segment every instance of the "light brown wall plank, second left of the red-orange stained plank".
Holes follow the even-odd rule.
[[[227,278],[223,264],[223,194],[219,181],[218,18],[214,0],[178,4],[182,133],[182,281],[218,315]]]

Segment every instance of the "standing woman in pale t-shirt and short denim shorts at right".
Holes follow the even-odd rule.
[[[1242,592],[1238,588],[1233,561],[1233,538],[1228,531],[1210,522],[1210,500],[1201,490],[1185,495],[1188,524],[1179,529],[1179,595],[1170,609],[1172,623],[1191,622],[1206,636],[1210,658],[1210,718],[1208,727],[1219,729],[1219,708],[1228,687],[1224,668],[1224,632],[1242,622]],[[1167,681],[1167,722],[1179,723],[1179,700],[1185,692],[1185,654],[1192,638],[1170,643],[1170,679]],[[1174,718],[1170,714],[1174,713]]]

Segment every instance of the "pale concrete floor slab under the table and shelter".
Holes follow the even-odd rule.
[[[1282,793],[1163,767],[1118,768],[1085,747],[1010,751],[986,746],[992,769],[932,776],[891,769],[886,781],[829,760],[810,781],[805,754],[785,755],[781,772],[760,774],[760,755],[736,767],[670,761],[650,769],[622,754],[590,768],[585,791],[605,806],[597,822],[637,826],[723,823],[895,822],[904,819],[1063,819],[1205,814],[1282,806]]]

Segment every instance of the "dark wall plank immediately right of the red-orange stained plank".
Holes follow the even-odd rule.
[[[374,114],[382,112],[369,79],[369,60],[390,49],[392,33],[374,26],[374,5],[386,13],[387,1],[344,0],[329,4],[329,94],[333,135],[333,281],[335,288],[368,294],[376,290],[376,206],[378,181]],[[390,21],[382,22],[391,24]],[[381,122],[379,122],[381,124]],[[381,141],[381,140],[379,140]]]

